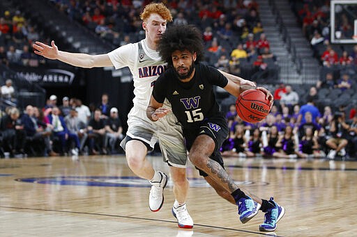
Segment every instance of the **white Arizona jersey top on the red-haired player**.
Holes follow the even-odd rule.
[[[165,72],[166,63],[161,60],[158,51],[150,49],[146,40],[126,44],[108,53],[115,67],[129,67],[134,80],[134,107],[146,111],[149,104],[153,83]]]

